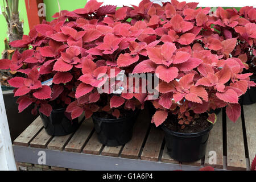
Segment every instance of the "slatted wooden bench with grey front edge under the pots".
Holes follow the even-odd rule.
[[[225,110],[210,133],[205,159],[179,163],[170,158],[162,130],[150,123],[148,110],[141,111],[134,126],[133,138],[125,146],[107,147],[98,142],[92,119],[81,120],[79,130],[65,137],[46,134],[37,118],[14,142],[16,162],[80,170],[172,171],[249,170],[256,154],[256,104],[243,106],[236,123],[226,118]],[[216,161],[214,161],[216,156]],[[212,162],[215,162],[212,164]]]

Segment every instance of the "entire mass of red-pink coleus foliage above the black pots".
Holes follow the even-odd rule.
[[[55,102],[68,105],[71,118],[84,111],[86,118],[96,111],[119,118],[123,109],[143,109],[151,101],[156,126],[176,114],[184,128],[200,114],[221,107],[235,122],[241,112],[239,97],[255,86],[253,73],[243,71],[255,57],[256,10],[219,7],[212,14],[197,4],[172,0],[160,6],[143,0],[117,10],[90,0],[82,9],[56,13],[52,22],[39,24],[10,44],[27,51],[0,60],[0,69],[26,75],[9,81],[19,96],[19,111],[34,103],[33,113],[39,108],[49,115]],[[114,94],[120,85],[123,90],[135,87],[111,81],[122,71],[156,74],[159,98],[152,100],[151,93]],[[109,91],[99,93],[106,82]],[[208,121],[214,123],[216,115],[209,114]]]

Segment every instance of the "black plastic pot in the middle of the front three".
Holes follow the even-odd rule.
[[[138,113],[138,111],[134,111],[129,117],[119,119],[99,118],[94,114],[92,118],[98,140],[110,147],[123,146],[129,142]]]

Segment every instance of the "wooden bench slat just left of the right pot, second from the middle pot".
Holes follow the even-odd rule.
[[[163,143],[164,133],[161,129],[155,126],[151,127],[147,142],[143,148],[141,159],[158,161],[159,154]]]

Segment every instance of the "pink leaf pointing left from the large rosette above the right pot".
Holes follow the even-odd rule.
[[[133,73],[150,73],[155,72],[156,64],[151,60],[145,60],[137,64],[133,70]]]

